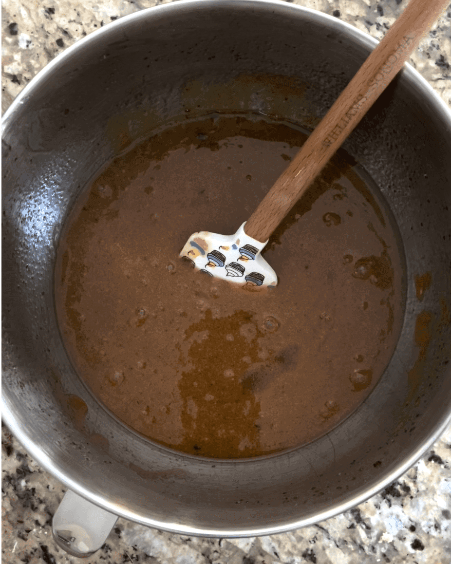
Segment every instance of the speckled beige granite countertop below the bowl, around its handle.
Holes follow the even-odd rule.
[[[118,519],[89,564],[449,564],[451,430],[398,481],[355,509],[249,539],[171,535]],[[51,539],[64,488],[2,429],[2,562],[75,564]]]

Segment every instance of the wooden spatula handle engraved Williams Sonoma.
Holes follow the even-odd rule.
[[[410,0],[245,225],[266,241],[403,67],[449,0]]]

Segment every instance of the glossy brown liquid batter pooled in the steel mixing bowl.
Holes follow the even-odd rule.
[[[244,117],[167,129],[114,160],[69,218],[56,309],[78,374],[176,450],[259,456],[318,438],[368,396],[399,336],[390,222],[343,157],[273,234],[276,289],[191,270],[193,231],[230,234],[305,135]]]

